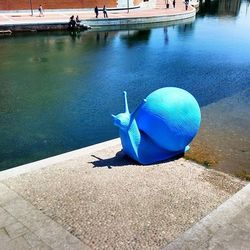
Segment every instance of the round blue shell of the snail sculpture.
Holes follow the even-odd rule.
[[[166,150],[183,150],[200,127],[196,99],[183,89],[166,87],[152,92],[146,100],[136,117],[139,129]]]

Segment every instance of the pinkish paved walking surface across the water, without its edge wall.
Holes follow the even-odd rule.
[[[161,0],[164,3],[164,0]],[[159,7],[160,6],[160,7]],[[162,6],[162,7],[161,7]],[[127,13],[127,10],[121,11],[108,11],[109,19],[124,19],[124,18],[139,18],[139,17],[154,17],[162,15],[173,15],[177,13],[188,13],[193,11],[193,7],[189,7],[185,10],[185,6],[182,0],[176,1],[176,8],[170,6],[166,9],[165,4],[158,5],[154,9],[134,9]],[[31,16],[30,12],[27,13],[0,13],[0,25],[4,24],[22,24],[22,23],[48,23],[48,22],[68,22],[71,15],[78,15],[81,20],[95,19],[94,11],[59,11],[59,12],[46,12],[44,17],[39,17],[37,10],[34,11],[34,15]],[[102,11],[99,11],[99,18],[103,19]]]

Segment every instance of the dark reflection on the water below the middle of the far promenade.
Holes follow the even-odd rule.
[[[128,47],[137,45],[138,43],[147,43],[150,38],[151,30],[128,30],[120,35]]]

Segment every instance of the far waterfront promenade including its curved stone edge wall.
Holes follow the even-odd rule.
[[[55,24],[55,23],[68,23],[70,16],[78,15],[83,24],[88,24],[91,21],[91,25],[98,25],[102,21],[104,24],[113,20],[125,20],[129,19],[139,22],[139,19],[143,19],[141,23],[151,22],[163,22],[185,19],[195,16],[195,9],[192,6],[185,10],[185,5],[181,0],[176,1],[176,8],[170,6],[166,9],[164,1],[152,6],[153,8],[138,8],[131,9],[128,13],[127,10],[110,10],[108,11],[108,18],[103,18],[102,11],[99,11],[99,17],[95,18],[93,10],[60,10],[60,11],[44,11],[44,16],[40,17],[38,10],[34,10],[33,16],[30,11],[22,12],[0,12],[0,27],[7,25],[28,25],[28,24]],[[156,19],[158,18],[158,19]],[[114,25],[116,23],[113,23]]]

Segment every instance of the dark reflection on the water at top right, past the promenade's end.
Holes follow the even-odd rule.
[[[241,0],[200,0],[199,16],[237,16]]]

